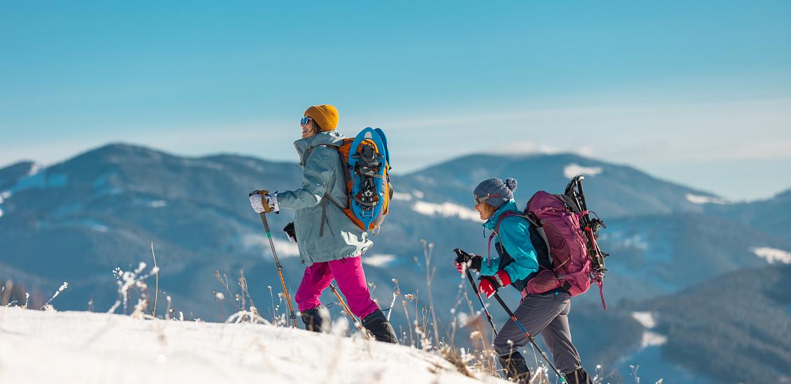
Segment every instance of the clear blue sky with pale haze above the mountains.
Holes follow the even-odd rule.
[[[0,0],[0,165],[110,141],[296,161],[323,103],[386,130],[395,171],[579,152],[767,198],[791,188],[791,2]]]

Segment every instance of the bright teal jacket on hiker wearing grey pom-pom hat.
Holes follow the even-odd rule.
[[[539,270],[539,261],[536,255],[536,249],[530,241],[529,223],[528,220],[517,216],[505,217],[500,223],[500,228],[497,226],[500,216],[506,211],[513,211],[521,213],[517,207],[516,201],[509,201],[502,205],[500,209],[483,223],[483,228],[494,231],[494,239],[496,239],[501,247],[513,258],[513,262],[507,263],[500,268],[501,257],[484,259],[481,263],[480,273],[484,276],[491,276],[502,269],[511,278],[511,281],[524,280],[531,273]]]

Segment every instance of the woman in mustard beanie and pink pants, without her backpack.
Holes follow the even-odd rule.
[[[338,151],[327,145],[340,145],[343,136],[335,131],[338,110],[331,105],[309,107],[301,119],[302,138],[294,147],[303,169],[302,186],[274,194],[253,195],[250,204],[257,213],[268,204],[272,212],[294,209],[291,224],[284,230],[297,242],[305,274],[294,295],[305,328],[327,329],[319,298],[332,282],[338,282],[352,313],[377,341],[397,343],[392,328],[377,303],[371,299],[362,254],[373,242],[343,210],[346,207],[346,179]]]

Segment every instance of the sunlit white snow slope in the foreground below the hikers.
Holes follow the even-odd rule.
[[[505,383],[491,376],[484,382]],[[251,324],[0,307],[3,383],[475,383],[414,348]]]

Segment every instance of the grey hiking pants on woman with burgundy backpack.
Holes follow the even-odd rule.
[[[581,367],[579,352],[571,344],[570,309],[571,296],[561,291],[525,296],[517,311],[513,311],[528,333],[534,337],[541,333],[555,367],[562,373]],[[513,341],[513,344],[509,344],[509,341]],[[494,349],[500,355],[500,362],[509,378],[529,377],[524,356],[518,352],[518,349],[528,343],[528,337],[511,320],[505,323],[494,338]]]

